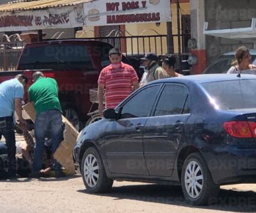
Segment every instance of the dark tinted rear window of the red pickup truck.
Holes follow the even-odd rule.
[[[92,70],[91,48],[87,45],[44,45],[25,48],[18,69]],[[100,50],[98,51],[100,53]]]

